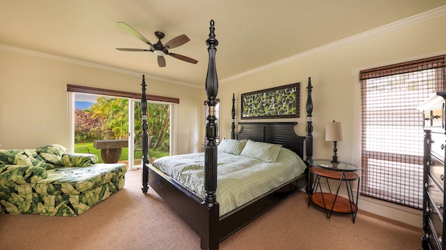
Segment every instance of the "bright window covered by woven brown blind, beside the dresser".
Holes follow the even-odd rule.
[[[426,98],[445,90],[445,56],[360,71],[361,194],[422,209]]]

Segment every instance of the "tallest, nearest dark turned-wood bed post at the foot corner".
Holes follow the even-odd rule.
[[[214,20],[210,20],[208,45],[209,63],[206,75],[206,94],[208,95],[208,120],[206,124],[206,139],[204,145],[204,209],[203,228],[201,230],[201,249],[218,249],[220,242],[218,224],[220,209],[215,192],[217,191],[217,127],[215,126],[215,98],[218,93],[217,68],[215,67],[215,52],[218,41],[215,39]]]

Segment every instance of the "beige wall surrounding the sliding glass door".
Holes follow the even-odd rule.
[[[55,58],[55,57],[54,57]],[[0,145],[2,149],[68,144],[66,84],[141,93],[141,75],[116,73],[54,58],[0,50]],[[203,89],[146,78],[147,94],[180,98],[178,153],[198,152]],[[40,131],[39,126],[45,125]],[[200,125],[200,126],[199,126]]]

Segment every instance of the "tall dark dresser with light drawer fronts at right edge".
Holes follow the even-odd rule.
[[[423,236],[422,249],[444,249],[445,244],[445,98],[437,92],[419,109],[423,110]]]

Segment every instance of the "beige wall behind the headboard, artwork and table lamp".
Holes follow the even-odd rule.
[[[445,24],[445,16],[437,17],[369,38],[321,47],[286,64],[237,79],[222,80],[218,94],[222,99],[222,137],[231,136],[233,93],[236,94],[236,122],[246,122],[247,120],[240,120],[240,94],[293,82],[301,84],[300,118],[279,121],[297,121],[298,134],[305,135],[306,87],[307,79],[311,77],[314,86],[314,159],[331,158],[333,145],[332,142],[325,142],[325,124],[336,120],[344,125],[344,141],[338,142],[337,147],[339,159],[360,165],[359,70],[446,54],[446,32],[443,32]],[[366,198],[360,199],[359,208],[414,226],[422,225],[421,212],[413,209]]]

